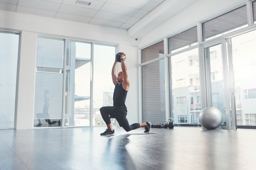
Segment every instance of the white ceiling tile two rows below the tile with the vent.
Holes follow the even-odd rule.
[[[67,14],[67,13],[57,13],[55,18],[76,21],[76,22],[84,22],[84,23],[88,23],[92,19],[91,17],[84,17],[80,15],[73,15],[73,14]]]

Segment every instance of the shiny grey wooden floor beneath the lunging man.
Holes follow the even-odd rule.
[[[256,130],[0,130],[0,170],[256,170]]]

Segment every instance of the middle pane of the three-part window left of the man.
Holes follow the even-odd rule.
[[[67,41],[65,126],[90,126],[91,44]]]

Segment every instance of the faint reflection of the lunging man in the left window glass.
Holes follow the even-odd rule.
[[[52,124],[55,124],[55,123],[58,123],[58,126],[61,126],[61,120],[59,120],[58,122],[56,121],[52,121],[49,119],[49,113],[48,113],[48,110],[49,110],[49,90],[44,90],[44,107],[43,107],[43,114],[37,114],[37,116],[39,118],[42,118],[42,119],[45,119],[45,121],[49,124],[49,125],[52,125]],[[41,119],[38,119],[38,125],[36,125],[37,127],[39,126],[42,126],[42,123],[41,123]]]

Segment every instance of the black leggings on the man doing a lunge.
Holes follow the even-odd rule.
[[[115,118],[119,125],[124,128],[126,132],[137,129],[140,127],[139,123],[133,123],[129,125],[128,120],[126,119],[127,112],[122,110],[121,108],[106,106],[100,108],[102,118],[106,124],[110,124],[110,118]]]

